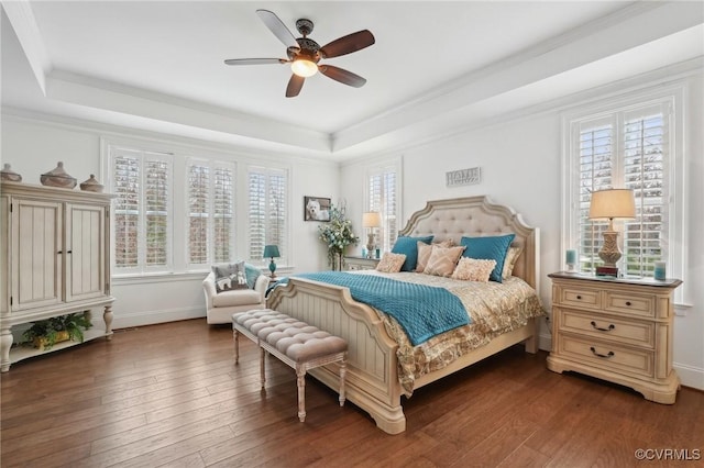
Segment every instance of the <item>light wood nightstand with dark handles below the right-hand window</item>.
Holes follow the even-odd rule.
[[[600,278],[556,272],[552,350],[548,368],[572,370],[672,404],[680,380],[672,369],[673,292],[679,279]]]

